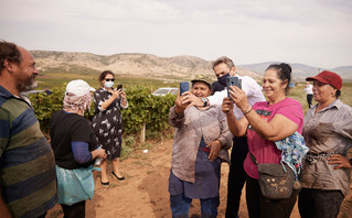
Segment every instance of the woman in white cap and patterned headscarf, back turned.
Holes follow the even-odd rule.
[[[92,170],[88,167],[93,164],[94,159],[106,157],[104,149],[96,150],[97,142],[90,121],[83,117],[84,111],[90,107],[92,90],[94,89],[82,79],[70,81],[66,86],[63,109],[54,112],[50,121],[51,144],[56,163],[58,203],[65,218],[85,217],[85,199],[73,200],[75,196],[67,197],[73,193],[66,188],[71,188],[70,186],[73,186],[73,184],[77,184],[79,188],[92,185],[92,183],[86,184],[85,179],[83,181],[79,177],[79,172],[75,172],[75,170],[86,170],[84,171],[85,175],[90,176],[94,192]],[[66,173],[65,179],[61,179],[58,176],[62,172]],[[61,188],[63,188],[63,192],[61,192]],[[92,187],[87,188],[92,190]],[[64,195],[61,195],[62,193]],[[86,193],[88,190],[83,188],[78,195],[85,196]],[[70,203],[66,201],[68,198]]]

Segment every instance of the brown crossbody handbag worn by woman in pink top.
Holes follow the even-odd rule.
[[[259,164],[252,153],[249,156],[258,168],[262,194],[269,199],[289,198],[294,192],[294,171],[284,164]]]

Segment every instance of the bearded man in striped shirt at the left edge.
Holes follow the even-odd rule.
[[[45,217],[56,203],[53,151],[29,100],[36,87],[33,56],[0,41],[0,215]]]

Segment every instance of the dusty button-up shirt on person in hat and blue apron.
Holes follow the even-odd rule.
[[[232,133],[221,106],[199,109],[189,107],[182,116],[170,109],[169,123],[175,128],[172,148],[172,173],[180,179],[194,183],[195,159],[203,135],[205,144],[218,140],[222,150],[218,157],[230,163],[227,150],[232,145]]]

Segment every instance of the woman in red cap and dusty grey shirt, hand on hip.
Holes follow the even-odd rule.
[[[309,153],[300,174],[299,212],[302,218],[337,217],[350,190],[352,160],[346,152],[352,146],[352,108],[339,99],[338,74],[324,70],[306,80],[313,83],[318,103],[305,118],[302,134]]]

